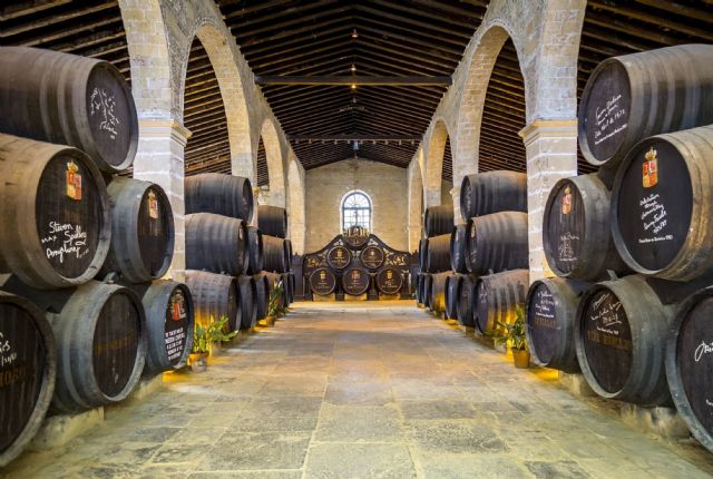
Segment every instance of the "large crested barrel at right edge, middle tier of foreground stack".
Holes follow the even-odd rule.
[[[622,163],[612,234],[632,270],[690,281],[713,268],[713,127],[647,138]]]

